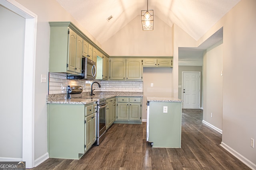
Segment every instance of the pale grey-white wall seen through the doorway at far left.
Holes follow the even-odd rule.
[[[0,6],[0,157],[22,158],[25,19]]]

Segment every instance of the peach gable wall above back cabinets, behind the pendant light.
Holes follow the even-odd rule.
[[[102,44],[110,56],[171,56],[172,28],[154,16],[154,30],[142,31],[141,16]]]

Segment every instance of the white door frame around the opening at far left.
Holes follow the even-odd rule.
[[[26,168],[33,168],[35,163],[34,104],[37,15],[16,2],[15,0],[0,0],[0,4],[5,8],[11,10],[12,12],[25,18],[22,110],[22,161],[26,162]]]

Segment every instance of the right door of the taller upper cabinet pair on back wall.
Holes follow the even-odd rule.
[[[142,60],[126,59],[126,80],[142,79]]]

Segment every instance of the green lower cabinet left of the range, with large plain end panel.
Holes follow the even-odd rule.
[[[92,104],[86,105],[92,107]],[[48,153],[50,158],[80,159],[89,149],[88,129],[94,126],[95,130],[89,135],[92,142],[95,133],[96,140],[96,113],[88,115],[90,126],[86,119],[85,105],[80,104],[47,104],[48,109]],[[86,117],[87,118],[87,117]],[[95,120],[95,121],[94,121]],[[95,122],[95,123],[94,123]]]

